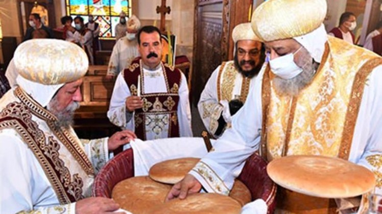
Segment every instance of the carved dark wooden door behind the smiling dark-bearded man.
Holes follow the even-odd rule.
[[[248,21],[252,4],[253,0],[196,0],[191,89],[195,106],[213,70],[233,59],[232,30]]]

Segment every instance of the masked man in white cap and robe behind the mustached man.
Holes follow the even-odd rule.
[[[137,48],[138,42],[135,38],[135,34],[139,28],[139,19],[135,15],[132,15],[127,21],[125,28],[127,32],[126,36],[117,40],[113,47],[106,74],[107,79],[111,80],[116,77],[121,70],[130,66],[133,59],[140,56]]]

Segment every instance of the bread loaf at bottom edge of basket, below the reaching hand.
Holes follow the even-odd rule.
[[[216,193],[197,193],[186,199],[173,199],[152,210],[149,213],[178,213],[178,214],[214,214],[240,213],[242,206],[228,196]]]

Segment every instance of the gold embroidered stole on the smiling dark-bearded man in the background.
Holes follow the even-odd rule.
[[[234,62],[223,62],[220,66],[217,81],[218,100],[231,101],[234,99],[233,88],[237,75],[242,78],[240,101],[245,103],[249,92],[251,78],[244,78],[236,69]]]

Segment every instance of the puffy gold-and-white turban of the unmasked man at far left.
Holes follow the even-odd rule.
[[[31,39],[18,45],[13,61],[23,78],[44,85],[72,82],[89,67],[86,53],[77,44],[58,39]]]

